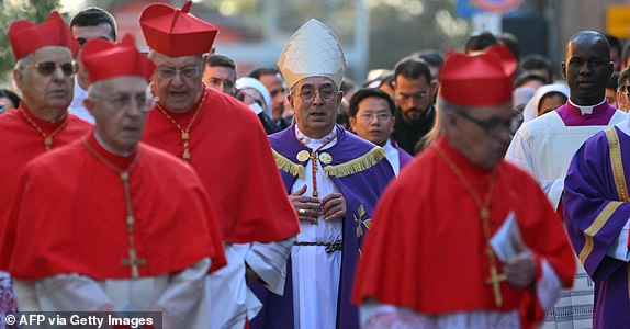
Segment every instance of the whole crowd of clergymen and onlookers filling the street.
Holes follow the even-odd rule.
[[[12,22],[0,328],[630,322],[630,46],[580,31],[560,79],[482,33],[357,83],[310,20],[239,77],[191,7],[143,10],[147,54],[100,8]]]

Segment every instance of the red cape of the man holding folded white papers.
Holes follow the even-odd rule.
[[[453,160],[479,195],[491,172],[459,155],[446,139],[437,145]],[[575,274],[574,254],[562,223],[537,182],[502,161],[490,203],[491,235],[514,211],[526,246],[553,268],[565,287]],[[383,304],[439,315],[471,310],[519,309],[529,328],[544,316],[536,292],[500,284],[503,307],[494,303],[490,263],[479,206],[435,149],[409,163],[385,191],[363,243],[353,303],[373,297]],[[497,270],[500,264],[496,260]]]

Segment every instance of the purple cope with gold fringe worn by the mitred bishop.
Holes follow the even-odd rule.
[[[344,164],[370,152],[374,145],[348,133],[337,125],[337,143],[323,151],[333,157],[328,164],[320,163],[324,168],[328,166]],[[271,148],[289,159],[294,164],[306,167],[305,161],[299,161],[297,152],[312,150],[297,141],[295,138],[295,125],[269,136]],[[297,175],[280,170],[280,175],[284,182],[286,193],[297,180]],[[347,213],[344,218],[344,249],[341,257],[341,277],[339,280],[339,299],[337,304],[337,328],[353,329],[359,328],[359,317],[357,307],[350,305],[350,293],[355,276],[355,269],[359,258],[359,249],[368,230],[365,220],[372,218],[379,196],[394,178],[394,171],[390,162],[382,152],[382,158],[376,163],[352,174],[336,177],[329,175],[340,193],[346,198]],[[362,206],[362,207],[361,207]],[[364,209],[360,211],[360,208]],[[338,252],[338,251],[336,251]],[[252,287],[258,298],[263,303],[262,310],[251,321],[250,328],[293,328],[293,282],[291,277],[291,257],[288,261],[286,283],[284,295],[278,296],[268,292],[260,285]]]

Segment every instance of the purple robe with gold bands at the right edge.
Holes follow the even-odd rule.
[[[623,123],[627,124],[627,123]],[[619,136],[626,185],[630,178],[630,137]],[[614,152],[615,154],[615,152]],[[620,202],[606,132],[577,150],[564,181],[564,222],[580,261],[595,282],[594,328],[630,324],[630,264],[607,256],[630,218],[630,203]],[[627,198],[627,196],[625,197]]]

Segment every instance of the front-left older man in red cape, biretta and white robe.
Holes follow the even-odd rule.
[[[155,65],[131,35],[88,42],[81,61],[94,129],[26,166],[9,223],[19,306],[159,311],[157,327],[202,328],[221,231],[194,171],[139,141]]]

